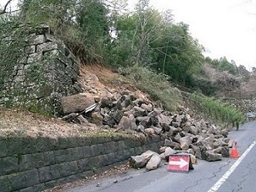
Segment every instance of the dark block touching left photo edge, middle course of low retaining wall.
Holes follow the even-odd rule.
[[[0,158],[0,176],[10,174],[19,170],[18,157]]]

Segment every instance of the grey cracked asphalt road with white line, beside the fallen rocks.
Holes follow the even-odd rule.
[[[144,168],[89,184],[66,189],[70,192],[248,192],[256,191],[256,121],[230,131],[237,141],[240,157],[223,158],[218,162],[199,160],[189,173],[168,172],[168,165],[147,172]]]

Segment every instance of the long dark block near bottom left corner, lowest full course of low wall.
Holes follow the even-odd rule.
[[[24,189],[40,184],[37,169],[8,175],[12,190]]]

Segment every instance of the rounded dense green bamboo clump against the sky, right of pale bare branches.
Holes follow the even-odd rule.
[[[184,23],[164,24],[164,38],[154,42],[154,68],[172,77],[174,83],[189,84],[189,77],[200,72],[204,60],[203,47],[189,35],[189,26]]]

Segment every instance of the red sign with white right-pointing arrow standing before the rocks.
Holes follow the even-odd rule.
[[[170,155],[168,171],[172,172],[189,172],[189,155]]]

